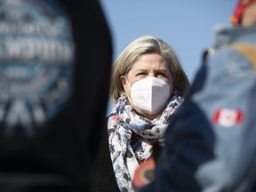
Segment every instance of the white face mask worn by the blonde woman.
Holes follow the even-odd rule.
[[[127,79],[126,81],[128,82]],[[170,85],[154,76],[141,79],[132,84],[132,87],[129,83],[128,85],[131,89],[130,100],[148,115],[154,115],[163,109],[170,97]]]

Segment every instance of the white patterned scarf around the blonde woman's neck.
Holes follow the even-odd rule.
[[[138,116],[124,96],[121,96],[108,117],[108,143],[118,188],[132,192],[132,177],[140,161],[153,152],[153,143],[164,144],[164,132],[172,121],[183,98],[174,92],[163,113],[154,120]],[[138,140],[132,145],[132,132]]]

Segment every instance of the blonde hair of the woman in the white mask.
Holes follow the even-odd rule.
[[[178,90],[184,96],[189,85],[188,76],[181,67],[176,53],[169,44],[156,36],[141,36],[129,44],[114,63],[110,82],[110,100],[116,103],[118,98],[125,94],[120,76],[126,76],[133,63],[146,53],[157,53],[167,60],[170,72],[174,76],[173,90]]]

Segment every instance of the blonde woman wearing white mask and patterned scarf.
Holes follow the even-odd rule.
[[[116,180],[120,191],[133,191],[133,174],[141,161],[152,156],[153,144],[162,146],[164,132],[188,88],[188,77],[169,44],[156,36],[141,36],[117,58],[110,84],[116,107],[108,116],[108,155],[100,153],[101,164],[98,159],[94,170],[99,177],[96,186],[115,191],[110,183]],[[107,159],[111,172],[104,172]]]

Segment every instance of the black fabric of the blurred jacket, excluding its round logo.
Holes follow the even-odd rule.
[[[29,137],[22,124],[9,136],[5,124],[0,124],[1,192],[90,188],[92,162],[108,106],[112,39],[99,1],[62,0],[60,6],[71,21],[75,44],[71,94],[55,116],[32,127]]]

